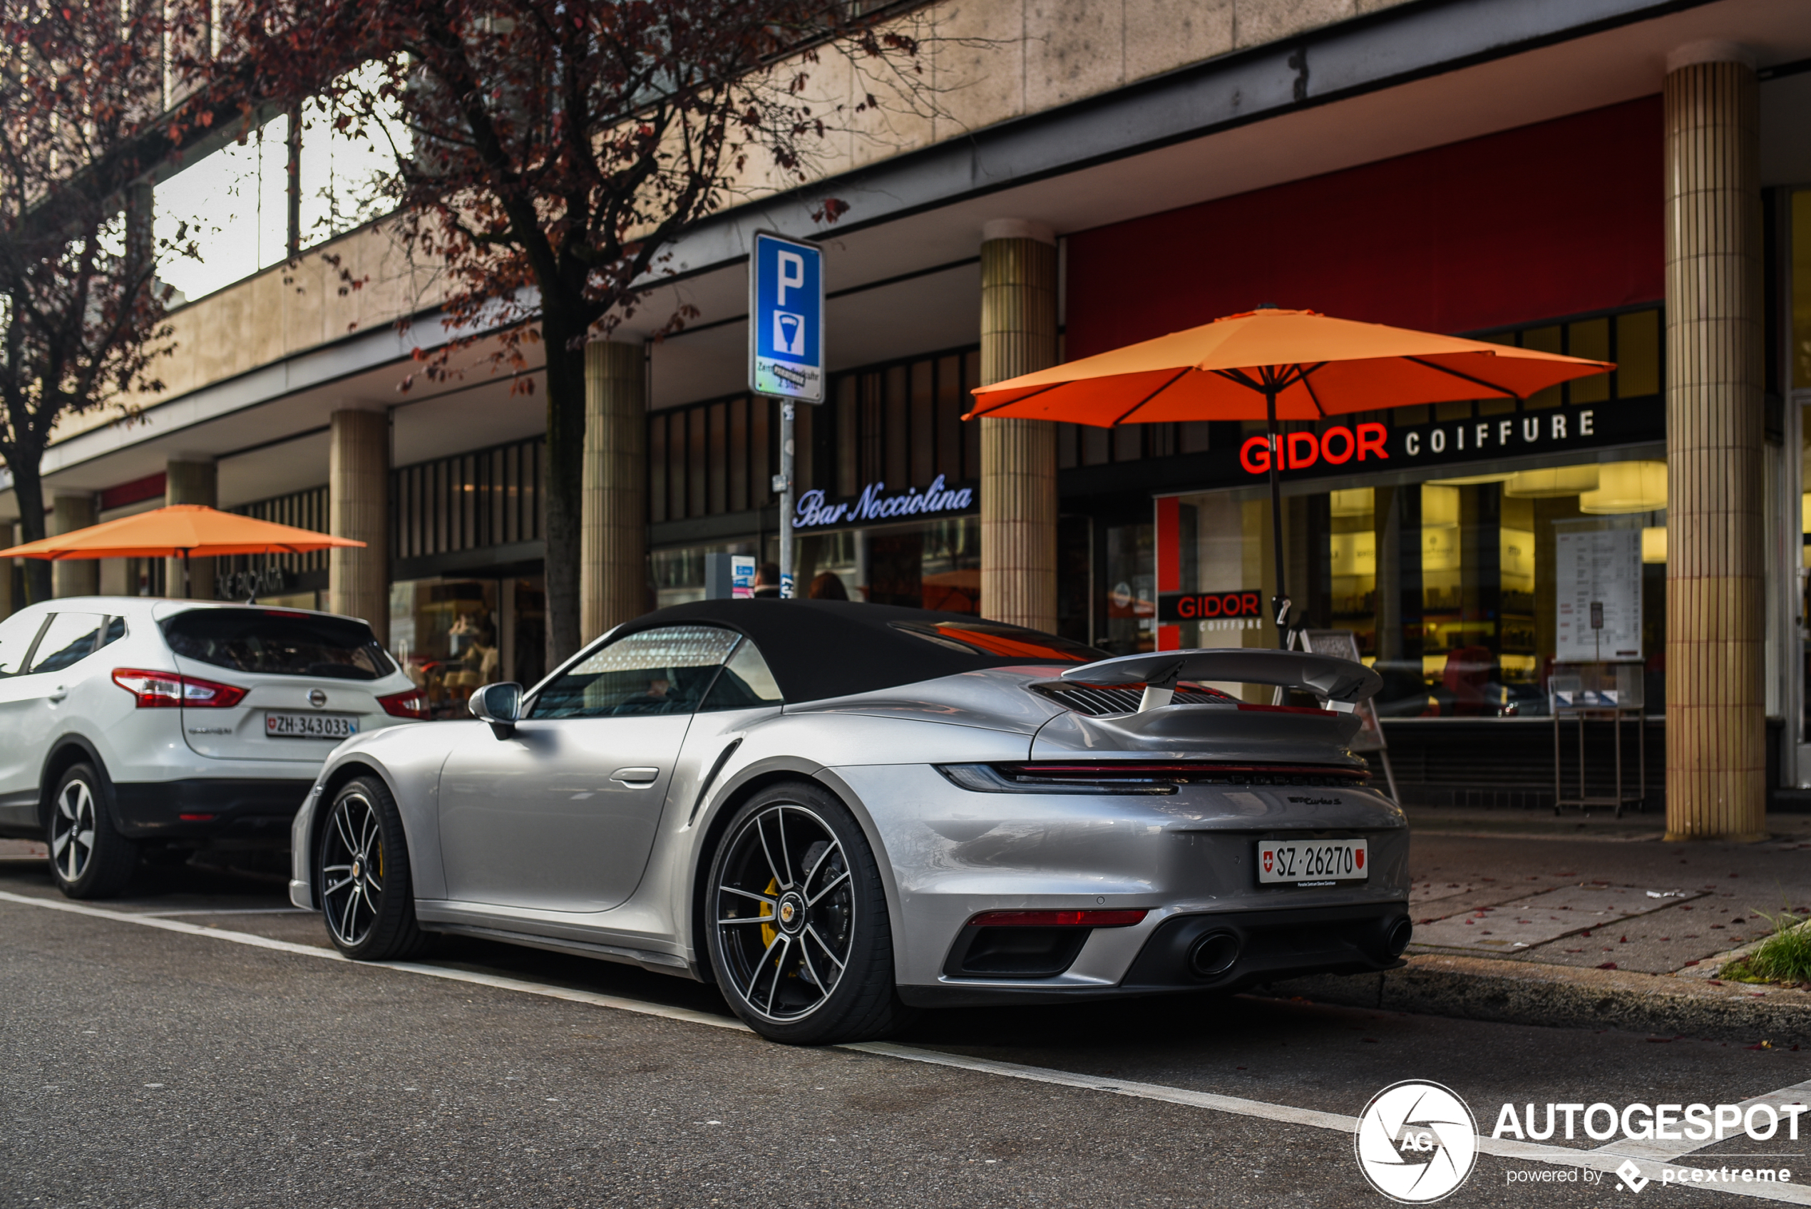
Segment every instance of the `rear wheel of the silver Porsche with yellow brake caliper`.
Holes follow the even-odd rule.
[[[860,1041],[907,1019],[880,871],[848,807],[822,787],[773,785],[737,811],[704,907],[717,983],[762,1037]]]

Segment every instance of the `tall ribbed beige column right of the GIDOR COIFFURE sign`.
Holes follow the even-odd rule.
[[[1666,838],[1766,827],[1758,90],[1746,52],[1666,74]]]

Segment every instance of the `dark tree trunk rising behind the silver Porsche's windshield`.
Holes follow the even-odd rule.
[[[547,308],[547,668],[580,648],[580,556],[585,516],[585,346]]]

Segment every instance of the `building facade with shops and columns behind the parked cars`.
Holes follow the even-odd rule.
[[[643,452],[599,462],[589,523],[645,527],[641,608],[701,595],[706,554],[775,557],[777,404],[744,371],[759,228],[826,248],[800,586],[1116,653],[1275,643],[1246,604],[1275,585],[1271,451],[1239,422],[963,422],[969,389],[1308,308],[1617,364],[1521,402],[1291,425],[1277,454],[1288,583],[1384,673],[1405,800],[1552,804],[1556,666],[1586,659],[1639,670],[1623,693],[1673,834],[1758,834],[1769,793],[1811,785],[1797,4],[945,0],[913,20],[947,40],[947,112],[695,230],[641,315],[697,319],[663,340],[625,324],[596,358],[598,414],[628,407]],[[333,147],[304,172],[333,154],[344,176],[355,152]],[[244,147],[219,157],[261,172]],[[159,188],[199,195],[208,163]],[[810,219],[826,195],[848,205],[828,228]],[[63,527],[206,501],[366,539],[205,579],[368,617],[453,715],[480,682],[545,671],[543,409],[478,367],[398,391],[440,338],[433,275],[366,217],[330,206],[299,262],[196,277],[170,389],[129,429],[62,434],[45,481]],[[337,293],[321,253],[373,284]],[[627,581],[612,548],[587,543],[599,585]],[[152,563],[89,574],[170,583]],[[632,604],[598,604],[592,628],[612,608]],[[1608,731],[1586,740],[1595,785]]]

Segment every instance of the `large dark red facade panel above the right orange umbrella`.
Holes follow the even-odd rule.
[[[1480,331],[1664,293],[1657,96],[1068,239],[1070,358],[1262,302]]]

